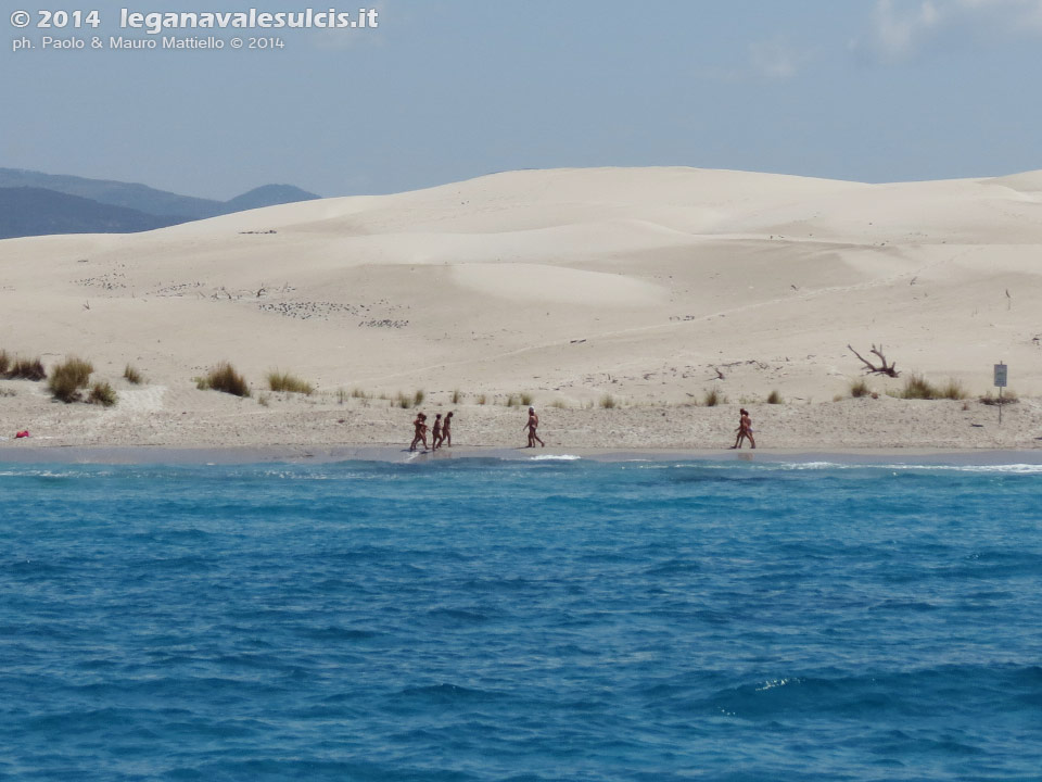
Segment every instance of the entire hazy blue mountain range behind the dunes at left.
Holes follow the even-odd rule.
[[[45,234],[127,234],[321,198],[291,185],[265,185],[230,201],[213,201],[144,185],[21,168],[0,168],[0,239]],[[77,200],[67,200],[71,198]]]

